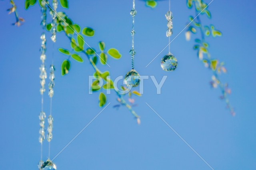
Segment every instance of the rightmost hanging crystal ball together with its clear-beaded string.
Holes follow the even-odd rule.
[[[167,31],[166,36],[169,37],[169,53],[165,55],[161,60],[161,67],[165,71],[174,71],[178,66],[176,57],[170,53],[170,36],[172,35],[172,12],[170,11],[170,0],[169,0],[169,11],[165,14],[167,20]]]

